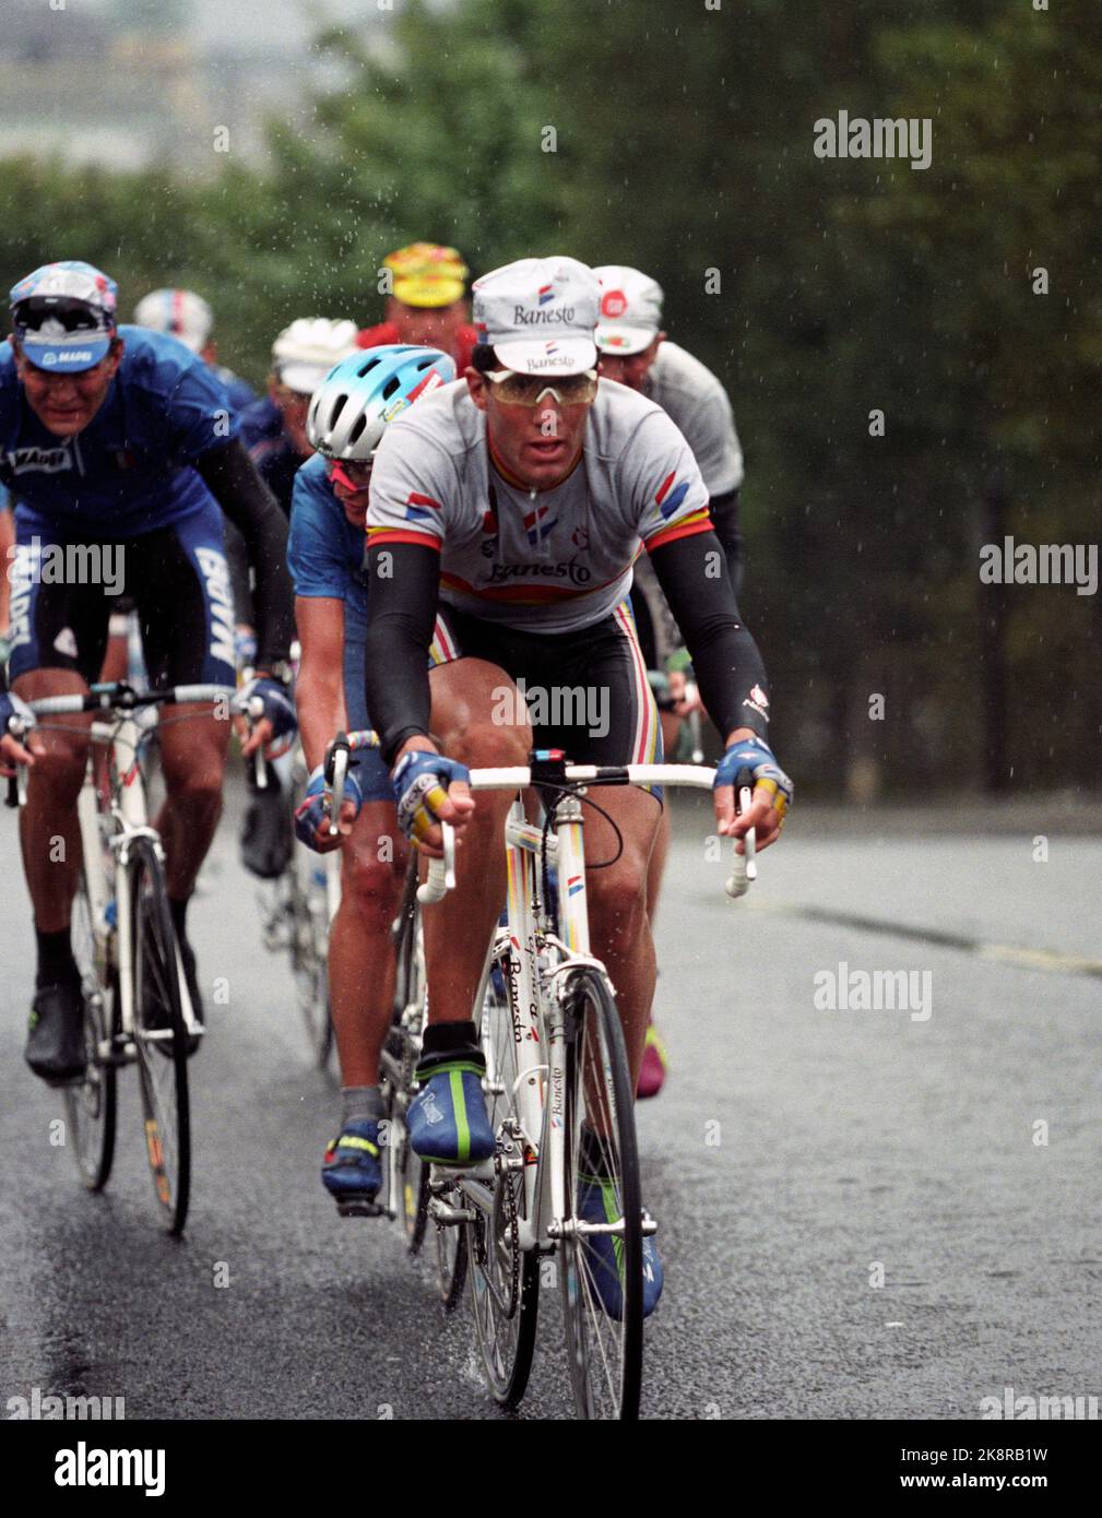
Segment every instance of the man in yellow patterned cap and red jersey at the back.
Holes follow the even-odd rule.
[[[360,348],[389,343],[439,348],[455,361],[455,373],[463,375],[478,334],[471,325],[464,298],[471,270],[457,249],[410,243],[387,254],[383,266],[392,278],[387,319],[360,332]]]

